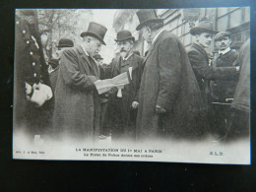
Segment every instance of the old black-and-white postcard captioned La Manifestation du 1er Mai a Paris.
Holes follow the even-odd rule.
[[[15,160],[250,164],[250,8],[16,9]]]

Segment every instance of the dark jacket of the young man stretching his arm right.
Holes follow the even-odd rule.
[[[235,67],[210,66],[207,52],[202,46],[196,43],[191,45],[188,51],[188,57],[203,98],[210,107],[212,103],[210,81],[224,79],[230,73],[236,73],[236,69]]]

